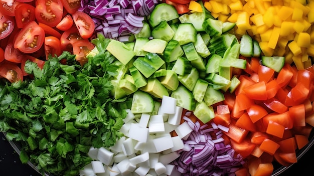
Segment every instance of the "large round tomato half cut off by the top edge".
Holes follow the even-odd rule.
[[[39,23],[55,27],[60,23],[63,14],[61,0],[38,0],[35,16]]]

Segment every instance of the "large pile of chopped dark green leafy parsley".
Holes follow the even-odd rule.
[[[54,175],[78,175],[91,161],[91,146],[110,147],[123,134],[126,108],[131,100],[115,100],[110,82],[118,74],[115,58],[105,49],[109,39],[92,43],[99,54],[83,68],[64,52],[46,61],[43,69],[27,62],[33,79],[0,83],[0,131],[18,141],[20,159]],[[60,64],[60,60],[67,64]]]

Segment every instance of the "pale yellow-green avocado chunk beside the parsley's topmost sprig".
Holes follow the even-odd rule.
[[[126,65],[134,56],[133,49],[117,40],[111,40],[106,48],[122,64]]]

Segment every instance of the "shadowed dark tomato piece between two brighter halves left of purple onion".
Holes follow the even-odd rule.
[[[79,40],[84,40],[76,27],[71,27],[70,29],[64,31],[61,35],[61,49],[63,51],[73,52],[73,43]]]

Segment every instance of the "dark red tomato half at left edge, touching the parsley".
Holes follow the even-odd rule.
[[[6,78],[10,82],[23,81],[23,73],[19,66],[10,62],[2,62],[0,64],[0,76]]]

